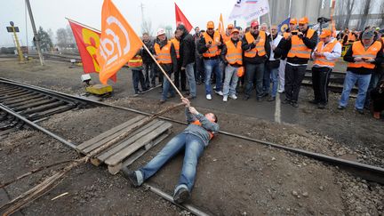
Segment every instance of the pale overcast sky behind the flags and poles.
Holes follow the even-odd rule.
[[[65,17],[84,23],[93,28],[100,29],[102,0],[30,0],[36,28],[40,26],[47,30],[52,29],[56,35],[58,28],[65,28],[68,21]],[[220,12],[223,14],[224,24],[228,24],[228,15],[235,0],[113,0],[116,7],[132,25],[138,34],[141,34],[140,4],[144,4],[144,16],[152,21],[154,32],[161,26],[172,25],[175,28],[174,2],[187,16],[191,24],[205,28],[208,20],[213,20],[217,26]],[[6,32],[13,21],[20,28],[20,43],[26,45],[28,31],[28,45],[33,38],[29,16],[27,16],[24,0],[2,0],[0,7],[0,46],[13,46],[11,33]],[[239,23],[239,22],[238,22]],[[240,21],[244,25],[244,20]]]

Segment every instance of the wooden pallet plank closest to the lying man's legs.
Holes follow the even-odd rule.
[[[160,127],[157,127],[155,130],[153,130],[152,132],[149,132],[146,136],[141,137],[139,140],[136,140],[132,145],[129,146],[129,148],[124,148],[123,150],[116,153],[116,155],[110,156],[105,161],[105,164],[116,165],[120,163],[122,160],[124,160],[124,158],[126,158],[127,156],[130,156],[137,149],[148,144],[149,141],[154,140],[161,133],[166,132],[171,127],[172,127],[171,123],[165,122]]]

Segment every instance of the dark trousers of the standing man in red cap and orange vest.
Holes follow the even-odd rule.
[[[265,64],[245,64],[245,95],[250,96],[253,87],[253,79],[256,76],[256,97],[260,98],[263,94],[262,82],[264,76]]]

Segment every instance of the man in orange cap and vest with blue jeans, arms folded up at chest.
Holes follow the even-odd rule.
[[[212,100],[212,88],[211,88],[211,76],[212,72],[216,76],[216,90],[215,92],[219,95],[223,95],[221,92],[221,77],[222,70],[220,67],[220,49],[222,47],[223,40],[218,31],[214,30],[214,23],[208,21],[207,29],[203,33],[200,39],[197,49],[198,52],[203,55],[204,59],[204,70],[205,70],[205,98]]]

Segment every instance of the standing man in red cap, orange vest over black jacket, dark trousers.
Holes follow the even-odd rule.
[[[256,99],[261,101],[264,96],[262,84],[265,62],[270,54],[269,37],[264,31],[259,31],[259,22],[252,21],[250,31],[242,41],[245,63],[244,100],[248,100],[253,89],[253,78],[256,76]]]

